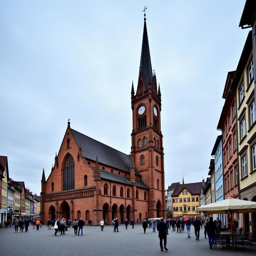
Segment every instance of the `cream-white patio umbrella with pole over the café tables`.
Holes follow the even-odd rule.
[[[256,202],[228,197],[225,200],[196,207],[196,211],[203,213],[224,213],[231,215],[232,248],[234,249],[233,219],[232,213],[256,212]]]

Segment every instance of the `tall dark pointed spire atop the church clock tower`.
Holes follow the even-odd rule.
[[[143,37],[142,37],[142,47],[141,47],[141,55],[140,55],[140,72],[139,72],[139,80],[140,75],[142,75],[143,81],[145,83],[145,90],[148,90],[148,77],[150,77],[150,81],[153,81],[153,72],[151,67],[151,59],[149,52],[149,44],[148,44],[148,32],[146,25],[146,14],[144,14],[144,29],[143,29]]]

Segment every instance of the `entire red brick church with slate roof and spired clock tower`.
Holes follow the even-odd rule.
[[[146,15],[145,15],[146,16]],[[70,127],[48,179],[42,175],[41,212],[48,219],[165,217],[161,92],[152,72],[146,18],[135,94],[132,83],[132,147],[126,155]]]

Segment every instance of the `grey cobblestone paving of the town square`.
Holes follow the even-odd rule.
[[[84,227],[83,236],[75,236],[73,228],[68,229],[65,235],[53,236],[54,229],[48,230],[46,225],[42,225],[39,231],[33,226],[29,226],[28,232],[15,233],[14,228],[0,229],[0,256],[84,256],[84,255],[182,255],[182,256],[252,256],[256,255],[256,245],[246,244],[245,250],[223,251],[218,245],[217,249],[210,250],[208,239],[204,239],[204,230],[200,231],[200,240],[195,240],[194,229],[191,228],[191,238],[185,233],[169,232],[167,236],[168,251],[161,252],[159,246],[158,232],[152,232],[152,228],[147,228],[144,234],[142,226],[135,225],[119,226],[119,233],[113,232],[111,226],[105,226],[104,231],[100,227]]]

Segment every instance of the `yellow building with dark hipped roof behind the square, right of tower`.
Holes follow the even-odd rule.
[[[200,206],[202,182],[178,184],[172,193],[173,217],[199,216],[196,207]]]

